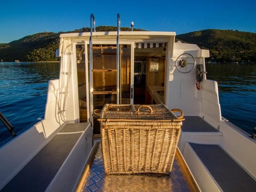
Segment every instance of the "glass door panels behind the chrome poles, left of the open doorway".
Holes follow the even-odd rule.
[[[89,45],[87,45],[89,50]],[[131,102],[131,45],[119,45],[119,100],[120,104]],[[91,79],[92,87],[88,94],[91,94],[93,119],[93,132],[100,134],[100,125],[97,121],[100,111],[105,104],[117,103],[117,66],[116,66],[116,45],[97,44],[92,45],[92,66]],[[87,55],[90,54],[87,51]],[[90,63],[88,63],[90,65]]]

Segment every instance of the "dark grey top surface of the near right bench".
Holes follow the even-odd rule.
[[[189,143],[223,191],[253,192],[256,181],[219,145]]]

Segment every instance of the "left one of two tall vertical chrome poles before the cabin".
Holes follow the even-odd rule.
[[[93,126],[93,84],[92,84],[92,22],[93,31],[95,32],[95,18],[91,14],[91,36],[89,41],[89,79],[90,79],[90,123]]]

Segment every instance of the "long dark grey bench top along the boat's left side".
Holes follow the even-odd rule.
[[[45,191],[73,148],[87,123],[67,124],[15,175],[2,191]],[[86,159],[85,154],[81,154]],[[63,181],[68,182],[68,181]]]

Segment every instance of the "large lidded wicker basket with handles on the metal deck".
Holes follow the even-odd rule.
[[[101,111],[102,154],[106,174],[169,174],[183,112],[165,105],[106,104]]]

